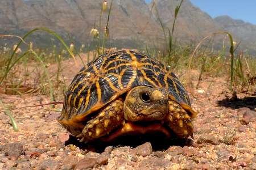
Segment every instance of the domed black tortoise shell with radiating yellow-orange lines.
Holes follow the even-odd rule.
[[[184,87],[163,63],[140,52],[121,50],[103,54],[79,71],[65,94],[59,121],[64,126],[80,126],[90,113],[137,86],[164,88],[192,111]]]

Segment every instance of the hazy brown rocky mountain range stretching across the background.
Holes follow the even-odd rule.
[[[109,20],[110,43],[118,47],[136,48],[144,41],[155,44],[163,42],[159,17],[168,35],[167,28],[172,29],[175,7],[179,3],[178,0],[155,0],[150,4],[144,0],[114,0]],[[104,31],[108,14],[100,16],[101,4],[102,0],[1,0],[0,34],[23,36],[33,28],[47,27],[68,42],[86,44],[93,41],[90,29],[100,27],[100,32]],[[154,6],[158,8],[159,17]],[[226,16],[212,19],[185,0],[176,20],[174,37],[177,42],[198,42],[212,32],[226,30],[245,41],[244,44],[252,42],[250,48],[253,48],[256,43],[255,27]],[[41,46],[56,44],[47,33],[42,32],[34,33],[30,40]],[[9,41],[10,38],[2,39],[0,45]]]

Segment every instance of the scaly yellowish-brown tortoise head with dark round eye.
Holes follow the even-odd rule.
[[[163,120],[168,113],[168,94],[147,86],[133,88],[126,95],[124,116],[128,121]]]

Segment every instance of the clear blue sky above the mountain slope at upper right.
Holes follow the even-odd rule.
[[[146,0],[146,2],[151,2],[151,0]],[[245,22],[256,24],[255,0],[191,0],[191,2],[212,18],[229,15],[234,19],[242,19]]]

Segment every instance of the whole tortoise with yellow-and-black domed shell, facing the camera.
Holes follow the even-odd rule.
[[[73,78],[58,121],[80,142],[160,131],[193,138],[187,91],[168,67],[132,50],[98,56]]]

